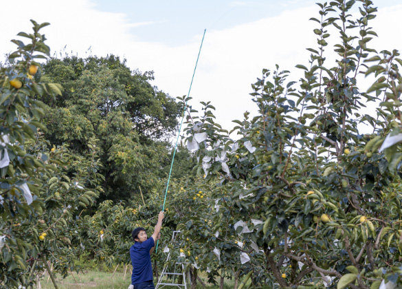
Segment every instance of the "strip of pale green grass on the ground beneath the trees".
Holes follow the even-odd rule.
[[[126,279],[124,279],[124,272],[115,272],[113,275],[112,272],[102,272],[97,270],[89,270],[82,274],[80,272],[79,275],[76,272],[73,273],[74,277],[69,275],[67,278],[63,279],[60,275],[56,275],[56,283],[59,289],[90,289],[90,288],[97,288],[97,289],[115,289],[115,288],[128,288],[131,283],[131,274],[127,272]],[[113,277],[112,277],[113,275]],[[203,279],[204,283],[206,283],[206,279],[203,275],[201,275],[201,279]],[[154,280],[155,286],[157,280]],[[41,280],[42,289],[53,289],[52,280],[49,279],[47,281],[47,275],[45,278]],[[225,280],[225,289],[233,288],[234,281],[233,280]],[[173,286],[166,286],[168,288],[177,288]],[[190,286],[188,286],[190,288]],[[198,284],[197,289],[205,289]],[[219,288],[219,285],[209,285],[207,284],[208,289],[210,288]]]

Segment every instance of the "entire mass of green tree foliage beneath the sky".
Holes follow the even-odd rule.
[[[184,262],[192,288],[199,270],[221,288],[224,278],[239,289],[249,279],[250,288],[402,286],[402,60],[368,46],[372,1],[318,6],[317,47],[297,65],[304,77],[263,69],[252,85],[257,116],[246,112],[229,132],[211,103],[189,109],[154,268]],[[84,255],[130,263],[131,231],[150,235],[164,204],[165,137],[190,100],[175,103],[115,56],[52,58],[41,69],[47,24],[33,23],[34,34],[19,34],[32,43],[14,41],[0,71],[0,285],[10,288],[49,264],[65,275]],[[360,76],[375,76],[366,92]]]

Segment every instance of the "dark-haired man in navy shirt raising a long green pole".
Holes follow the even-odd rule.
[[[133,240],[135,244],[130,248],[131,264],[133,264],[133,275],[131,275],[131,286],[134,289],[155,288],[153,284],[152,265],[150,263],[150,254],[155,249],[155,240],[159,239],[164,212],[161,211],[158,216],[158,222],[155,226],[152,236],[147,237],[144,228],[135,228]]]

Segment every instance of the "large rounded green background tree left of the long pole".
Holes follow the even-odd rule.
[[[101,200],[129,200],[139,186],[147,193],[166,175],[180,106],[150,84],[153,72],[131,71],[113,55],[66,56],[47,61],[42,80],[64,88],[63,96],[41,99],[47,105],[47,139],[67,143],[78,154],[90,138],[100,140]],[[187,163],[189,154],[181,151]]]

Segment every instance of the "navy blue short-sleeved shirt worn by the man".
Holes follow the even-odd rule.
[[[135,242],[130,248],[131,264],[133,265],[133,274],[131,275],[131,284],[153,281],[152,265],[150,264],[149,250],[155,246],[153,237],[146,241]]]

